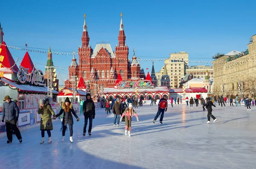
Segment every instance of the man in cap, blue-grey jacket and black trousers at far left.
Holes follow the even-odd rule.
[[[6,122],[6,135],[7,135],[7,143],[12,143],[12,131],[15,132],[17,139],[22,143],[22,137],[20,135],[20,130],[17,128],[17,121],[19,119],[20,110],[15,102],[12,101],[12,98],[8,95],[4,97],[6,101],[3,103],[3,115],[2,122]]]

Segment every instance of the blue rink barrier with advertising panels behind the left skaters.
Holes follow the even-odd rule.
[[[100,108],[100,102],[95,102],[95,108]],[[55,115],[58,114],[60,109],[59,106],[52,106],[52,110],[54,111]],[[80,104],[73,102],[73,109],[75,110],[76,114],[80,116]],[[17,122],[17,126],[20,131],[24,131],[27,129],[31,129],[36,126],[40,126],[41,115],[38,115],[38,108],[32,109],[20,109],[19,119]],[[2,111],[0,111],[0,137],[6,137],[6,127],[5,122],[3,123],[2,120]],[[52,122],[59,120],[52,119]]]

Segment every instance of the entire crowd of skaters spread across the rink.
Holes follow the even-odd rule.
[[[153,99],[149,97],[149,99],[152,105],[157,105],[158,102],[158,111],[156,116],[154,117],[153,123],[156,122],[157,118],[160,116],[160,124],[163,124],[163,116],[164,112],[167,111],[168,108],[168,100],[167,96],[163,95],[163,98],[159,99]],[[5,121],[6,123],[6,135],[7,135],[7,143],[12,143],[12,134],[15,134],[17,139],[20,143],[22,143],[22,137],[20,134],[20,130],[17,128],[17,120],[19,117],[19,108],[16,104],[17,100],[13,100],[8,95],[4,97],[4,100],[6,101],[3,103],[3,116],[2,116],[2,122]],[[207,97],[204,98],[193,98],[190,99],[186,97],[186,106],[189,106],[190,109],[193,109],[193,104],[196,105],[198,108],[199,104],[201,104],[203,111],[205,111],[205,108],[207,109],[207,123],[210,123],[210,117],[213,119],[213,123],[217,121],[217,119],[212,115],[212,106],[216,107],[218,104],[219,107],[226,107],[225,103],[230,103],[230,106],[234,106],[233,103],[236,106],[241,106],[241,102],[244,102],[244,107],[247,107],[247,111],[250,111],[250,106],[256,106],[256,98],[247,98],[244,97],[241,99],[240,97],[236,96],[234,99],[230,97],[227,99],[227,97],[223,96],[214,96],[213,98]],[[176,97],[170,98],[171,106],[173,107],[173,103],[179,105],[180,99]],[[105,99],[102,98],[101,100],[101,107],[105,108],[106,114],[111,114],[111,109],[114,115],[113,119],[113,126],[119,126],[119,122],[125,121],[125,136],[131,136],[131,119],[133,116],[136,117],[137,121],[139,121],[139,117],[136,113],[136,111],[133,108],[138,108],[139,106],[143,106],[145,104],[145,100],[143,102],[143,98],[138,99],[137,97],[130,98],[120,98],[119,96],[116,96],[115,99]],[[64,141],[65,138],[65,132],[67,131],[67,124],[69,125],[69,131],[70,131],[70,142],[73,142],[73,116],[76,117],[76,121],[79,121],[79,117],[76,115],[76,112],[73,109],[72,103],[70,102],[69,98],[67,97],[64,102],[61,103],[61,107],[59,109],[59,113],[55,115],[54,111],[52,110],[51,105],[49,104],[49,100],[43,100],[41,99],[39,101],[39,109],[38,114],[41,115],[41,123],[40,123],[40,130],[41,130],[41,137],[42,140],[40,141],[40,144],[44,143],[44,135],[45,131],[48,135],[48,141],[47,143],[52,143],[51,139],[51,130],[53,129],[52,125],[52,117],[53,119],[56,119],[57,117],[61,119],[61,131],[62,131],[62,139],[61,141]],[[93,119],[95,118],[95,105],[94,102],[90,96],[89,93],[86,95],[86,100],[83,99],[79,100],[80,104],[80,114],[84,115],[84,129],[83,129],[83,136],[86,135],[87,131],[87,125],[89,120],[89,127],[88,127],[88,135],[91,136],[91,130],[93,125]],[[73,114],[73,115],[72,115]],[[121,116],[121,118],[120,118]]]

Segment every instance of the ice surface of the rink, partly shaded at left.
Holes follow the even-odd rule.
[[[256,169],[256,106],[252,111],[241,105],[213,107],[216,123],[207,124],[202,108],[175,105],[152,121],[157,106],[135,109],[140,121],[132,117],[131,137],[125,124],[113,126],[113,114],[96,109],[92,136],[82,136],[84,117],[74,121],[73,143],[66,132],[61,142],[61,122],[55,120],[52,143],[39,144],[39,126],[21,131],[6,143],[0,138],[0,169]],[[87,126],[88,128],[88,126]]]

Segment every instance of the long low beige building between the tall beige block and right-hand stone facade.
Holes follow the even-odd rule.
[[[209,78],[213,77],[213,66],[189,66],[186,68],[186,74],[193,75],[193,78],[204,78],[208,71]]]

